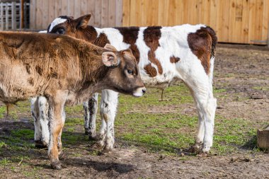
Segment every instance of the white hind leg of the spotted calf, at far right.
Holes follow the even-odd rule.
[[[195,148],[207,153],[213,144],[214,115],[217,108],[217,100],[213,97],[212,79],[198,61],[193,62],[193,67],[181,69],[183,81],[190,88],[198,110],[198,135],[195,139]],[[193,70],[195,67],[195,70]],[[188,69],[190,68],[190,69]],[[182,71],[185,71],[183,73]],[[212,72],[212,71],[210,71]]]

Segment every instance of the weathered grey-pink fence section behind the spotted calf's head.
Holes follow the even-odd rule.
[[[90,23],[96,27],[122,25],[122,0],[30,0],[30,28],[47,29],[58,16],[91,13]]]

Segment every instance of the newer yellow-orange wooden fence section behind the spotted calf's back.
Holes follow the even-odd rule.
[[[210,25],[219,42],[268,42],[269,0],[124,0],[124,26]]]

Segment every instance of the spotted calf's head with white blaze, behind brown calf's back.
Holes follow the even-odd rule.
[[[91,26],[88,26],[86,29],[90,18],[91,14],[76,19],[72,16],[59,16],[50,23],[47,28],[47,33],[69,35],[71,37],[92,41],[97,37],[97,33]],[[85,33],[84,30],[87,32]]]

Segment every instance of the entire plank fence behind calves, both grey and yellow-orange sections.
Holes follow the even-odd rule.
[[[269,0],[31,0],[30,28],[86,13],[96,27],[204,23],[219,42],[269,45]]]

